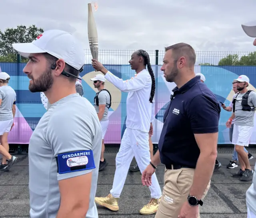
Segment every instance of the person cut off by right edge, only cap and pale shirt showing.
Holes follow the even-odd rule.
[[[242,25],[242,27],[248,36],[256,38],[256,22],[247,26]],[[254,39],[253,45],[256,46],[256,39]],[[252,185],[246,192],[246,205],[248,210],[247,218],[256,218],[256,174],[255,173],[252,179]]]

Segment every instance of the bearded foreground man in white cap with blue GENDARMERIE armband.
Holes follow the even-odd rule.
[[[23,70],[30,79],[29,90],[44,92],[51,104],[28,148],[30,217],[98,218],[94,196],[100,122],[92,104],[75,88],[85,61],[83,47],[61,30],[12,46],[29,58]]]

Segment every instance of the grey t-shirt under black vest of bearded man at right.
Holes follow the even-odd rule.
[[[245,93],[239,93],[236,97],[235,105],[235,124],[238,126],[254,126],[254,110],[253,111],[244,111],[242,110],[242,96]],[[250,92],[248,95],[248,105],[252,109],[256,106],[256,93],[254,91]]]

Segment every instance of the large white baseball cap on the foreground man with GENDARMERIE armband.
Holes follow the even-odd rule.
[[[51,29],[38,35],[31,43],[13,43],[12,47],[23,57],[32,53],[49,53],[80,70],[85,63],[84,48],[71,33]]]

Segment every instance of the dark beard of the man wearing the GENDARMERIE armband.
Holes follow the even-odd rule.
[[[51,69],[46,69],[42,75],[32,83],[29,84],[28,88],[30,92],[46,92],[52,87],[53,78]]]

